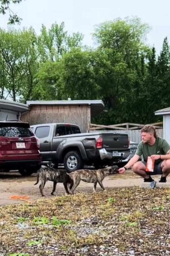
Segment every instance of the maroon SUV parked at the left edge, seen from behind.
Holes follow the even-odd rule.
[[[39,139],[29,123],[0,121],[0,171],[18,170],[31,175],[41,167]]]

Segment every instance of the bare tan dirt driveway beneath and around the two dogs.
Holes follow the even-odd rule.
[[[160,176],[156,177],[158,180]],[[28,195],[30,201],[42,198],[39,192],[39,185],[35,185],[36,174],[29,177],[23,177],[18,172],[0,173],[0,205],[7,205],[11,203],[20,203],[20,200],[10,199],[13,195]],[[125,174],[117,174],[112,176],[107,176],[103,185],[107,187],[130,187],[130,186],[140,186],[143,183],[143,179],[133,174],[131,171],[127,171]],[[170,181],[167,182],[170,184]],[[52,197],[50,195],[52,191],[53,182],[48,181],[44,187],[44,194],[47,197]],[[76,188],[76,192],[91,190],[93,184],[80,182],[80,185]],[[97,184],[97,189],[100,190]],[[57,184],[56,195],[64,194],[65,190],[62,183]]]

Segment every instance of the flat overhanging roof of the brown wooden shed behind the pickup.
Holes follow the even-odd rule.
[[[89,105],[91,114],[97,115],[104,110],[104,102],[102,100],[29,100],[28,106],[34,105]]]

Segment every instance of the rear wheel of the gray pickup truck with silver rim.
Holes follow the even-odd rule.
[[[82,157],[77,151],[70,151],[64,157],[64,168],[67,172],[80,170],[84,166]]]

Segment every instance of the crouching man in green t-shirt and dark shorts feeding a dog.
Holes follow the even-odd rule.
[[[144,178],[144,182],[154,181],[150,175],[162,174],[159,182],[166,182],[170,173],[170,146],[163,138],[158,137],[155,127],[145,125],[141,129],[142,141],[138,144],[135,155],[119,173],[124,173],[130,167],[133,172]],[[146,172],[147,158],[150,156],[155,160],[154,172]],[[142,157],[142,161],[138,161]]]

